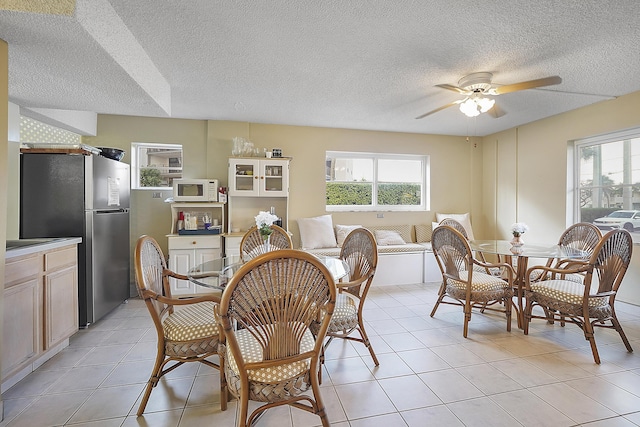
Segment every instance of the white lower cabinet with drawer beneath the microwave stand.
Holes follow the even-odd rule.
[[[220,235],[170,235],[168,239],[169,269],[179,274],[186,275],[191,268],[222,256]],[[169,286],[174,297],[216,292],[188,280],[173,278],[169,279]]]

